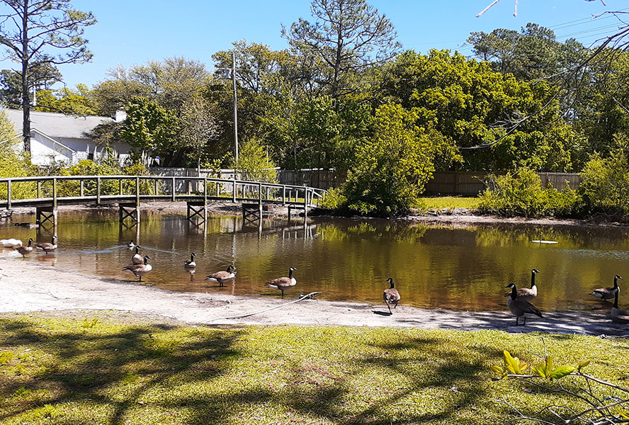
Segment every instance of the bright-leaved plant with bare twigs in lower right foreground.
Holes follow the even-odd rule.
[[[519,407],[514,407],[509,401],[503,401],[518,414],[519,421],[529,421],[538,424],[625,424],[629,423],[629,389],[615,385],[605,380],[594,378],[582,372],[590,361],[577,361],[576,365],[553,366],[553,358],[536,356],[542,359],[541,363],[530,367],[522,363],[519,358],[511,356],[509,351],[503,352],[504,366],[492,366],[492,372],[499,375],[498,380],[518,379],[538,387],[540,392],[554,392],[567,398],[565,406],[552,404],[544,407],[539,412],[529,414]],[[576,382],[563,384],[560,380],[567,377],[583,378],[586,386],[579,387]],[[548,380],[548,383],[540,384],[538,380]],[[603,387],[603,390],[595,388],[593,384]],[[552,386],[551,386],[552,385]],[[531,392],[531,390],[528,390]]]

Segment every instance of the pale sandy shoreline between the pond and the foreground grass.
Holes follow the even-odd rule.
[[[384,305],[303,300],[244,318],[295,300],[237,297],[220,293],[178,293],[137,283],[119,282],[64,271],[21,259],[0,256],[0,313],[55,311],[75,317],[77,310],[119,310],[160,316],[187,324],[300,324],[509,332],[544,331],[589,335],[626,335],[628,325],[611,323],[605,314],[545,313],[531,317],[526,327],[502,312],[423,310],[400,305],[389,316]]]

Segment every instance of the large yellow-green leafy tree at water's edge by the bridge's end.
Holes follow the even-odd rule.
[[[418,119],[399,105],[378,108],[373,137],[358,145],[349,170],[344,188],[348,208],[391,215],[419,206],[436,157],[453,152],[438,132],[420,128]]]

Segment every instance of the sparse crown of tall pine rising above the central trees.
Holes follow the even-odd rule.
[[[310,23],[300,18],[282,35],[300,55],[313,56],[329,69],[321,81],[335,100],[351,87],[351,76],[390,60],[401,45],[389,19],[365,0],[312,0]]]

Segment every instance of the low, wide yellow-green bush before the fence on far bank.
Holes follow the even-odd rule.
[[[528,168],[492,176],[489,188],[479,198],[479,210],[509,217],[566,217],[574,213],[579,202],[577,192],[568,186],[563,191],[542,187],[540,176]]]

